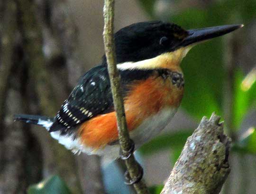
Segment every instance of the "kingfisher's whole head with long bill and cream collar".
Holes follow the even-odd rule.
[[[172,59],[179,63],[193,43],[227,34],[239,27],[241,25],[225,25],[187,31],[178,25],[162,21],[128,25],[114,36],[117,63],[127,68],[134,67],[134,65],[143,66],[142,68],[150,68],[152,65],[158,67],[159,65],[155,64],[155,58],[160,56],[162,56],[162,61]],[[146,63],[145,60],[147,60]],[[144,64],[138,63],[140,61]],[[106,63],[105,56],[103,63]]]

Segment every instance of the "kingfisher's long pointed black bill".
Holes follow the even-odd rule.
[[[222,36],[243,26],[244,25],[221,25],[215,27],[188,30],[189,35],[181,42],[181,46],[188,46],[196,42],[206,41],[211,38]]]

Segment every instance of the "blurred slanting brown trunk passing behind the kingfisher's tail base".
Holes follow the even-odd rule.
[[[54,116],[58,110],[51,77],[46,68],[46,59],[43,53],[42,28],[36,17],[36,4],[30,0],[18,0],[21,13],[21,34],[24,41],[24,50],[29,64],[29,76],[36,84],[36,92],[43,114]],[[82,193],[76,163],[73,154],[62,145],[53,140],[49,135],[46,137],[54,152],[54,167],[51,173],[58,173],[71,188],[73,193]]]

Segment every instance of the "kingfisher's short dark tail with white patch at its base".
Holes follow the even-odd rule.
[[[37,115],[15,115],[14,121],[22,121],[25,123],[31,123],[45,127],[47,130],[52,126],[54,118],[37,116]]]

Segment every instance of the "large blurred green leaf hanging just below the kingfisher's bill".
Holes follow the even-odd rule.
[[[224,70],[219,59],[220,51],[219,41],[215,40],[192,49],[183,59],[185,92],[182,107],[195,118],[210,116],[213,111],[221,113]]]

